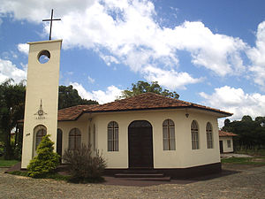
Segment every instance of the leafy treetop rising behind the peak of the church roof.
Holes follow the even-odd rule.
[[[122,91],[122,96],[120,96],[119,98],[123,99],[148,92],[159,94],[162,96],[168,96],[175,99],[178,99],[179,97],[178,93],[176,93],[175,91],[170,92],[167,89],[163,89],[157,81],[152,81],[151,84],[149,84],[146,81],[139,80],[136,84],[132,84],[132,89]]]

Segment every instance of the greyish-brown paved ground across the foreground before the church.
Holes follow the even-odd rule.
[[[187,184],[128,187],[70,184],[5,174],[0,169],[0,198],[265,198],[265,166],[226,165],[234,172]]]

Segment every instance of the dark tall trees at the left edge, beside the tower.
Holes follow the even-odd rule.
[[[0,133],[4,141],[4,158],[13,157],[11,148],[11,130],[19,119],[24,117],[25,86],[23,83],[12,84],[6,80],[0,85]]]

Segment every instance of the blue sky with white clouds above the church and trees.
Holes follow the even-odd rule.
[[[0,82],[27,77],[27,42],[63,39],[60,85],[107,103],[138,80],[181,100],[265,116],[263,0],[2,0]],[[222,126],[223,120],[219,124]]]

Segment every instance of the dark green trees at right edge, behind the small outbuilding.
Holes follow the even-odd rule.
[[[237,149],[265,149],[265,117],[254,120],[250,116],[243,116],[240,121],[225,119],[223,131],[238,134],[234,137]]]

